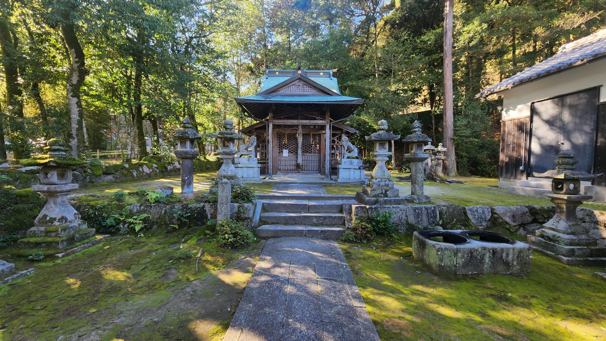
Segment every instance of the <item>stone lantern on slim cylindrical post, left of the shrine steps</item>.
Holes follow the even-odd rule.
[[[177,149],[173,153],[181,159],[181,196],[191,199],[193,197],[193,159],[200,154],[196,150],[196,141],[202,136],[192,128],[190,119],[184,118],[181,129],[175,131],[173,138],[177,139]]]

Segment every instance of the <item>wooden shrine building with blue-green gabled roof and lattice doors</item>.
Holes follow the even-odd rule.
[[[258,94],[235,98],[258,121],[240,133],[256,136],[262,174],[336,174],[342,137],[358,133],[340,122],[364,99],[343,96],[333,71],[265,69]]]

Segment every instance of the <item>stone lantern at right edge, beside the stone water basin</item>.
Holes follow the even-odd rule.
[[[562,151],[555,161],[555,170],[545,173],[533,173],[536,177],[547,177],[551,180],[551,191],[545,194],[556,205],[556,214],[543,228],[537,230],[534,236],[528,236],[531,243],[539,251],[554,254],[556,259],[571,265],[598,265],[606,263],[606,247],[599,247],[599,238],[589,236],[587,227],[582,225],[576,215],[576,208],[583,200],[593,196],[579,195],[581,180],[593,180],[603,174],[588,174],[576,170],[574,165],[579,161],[574,159],[570,150]],[[602,241],[604,241],[602,239]]]

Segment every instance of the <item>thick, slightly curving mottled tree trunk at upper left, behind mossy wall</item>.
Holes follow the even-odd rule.
[[[72,147],[72,156],[78,157],[79,152],[86,148],[84,141],[84,127],[82,125],[84,110],[82,108],[82,99],[80,89],[84,84],[84,78],[88,74],[84,65],[84,50],[76,35],[76,25],[72,21],[71,14],[76,9],[75,3],[66,1],[68,5],[61,12],[61,35],[70,51],[70,71],[67,74],[67,83],[65,90],[67,93],[67,104],[70,109],[70,146]]]

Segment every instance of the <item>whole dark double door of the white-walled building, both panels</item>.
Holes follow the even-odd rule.
[[[556,167],[563,150],[573,151],[576,168],[591,173],[596,137],[598,88],[534,102],[530,176]]]

